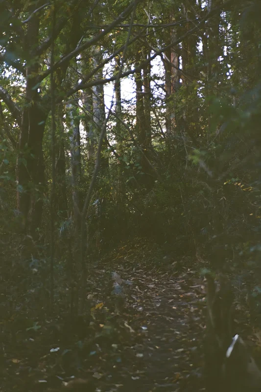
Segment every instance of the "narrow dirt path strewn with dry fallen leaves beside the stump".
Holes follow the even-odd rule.
[[[114,381],[121,385],[119,391],[202,390],[202,279],[190,270],[116,267],[113,275],[123,288],[124,315],[140,338],[132,346],[134,361],[122,367]]]

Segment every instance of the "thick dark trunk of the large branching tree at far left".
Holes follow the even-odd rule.
[[[30,7],[33,11],[34,6]],[[39,18],[34,15],[27,24],[25,50],[38,44]],[[43,136],[47,111],[43,108],[36,86],[39,64],[26,68],[25,101],[19,137],[19,152],[16,163],[17,205],[23,214],[24,229],[35,236],[43,210],[43,193],[46,187]]]

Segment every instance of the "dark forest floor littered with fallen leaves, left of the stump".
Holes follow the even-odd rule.
[[[2,342],[0,391],[203,391],[205,286],[188,265],[142,244],[95,262],[91,327],[74,324],[87,333],[62,317],[16,327],[15,340]]]

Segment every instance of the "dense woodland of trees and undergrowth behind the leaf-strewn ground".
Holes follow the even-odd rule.
[[[94,310],[119,313],[112,260],[226,273],[260,321],[260,15],[247,0],[0,1],[3,341],[61,319],[76,341]]]

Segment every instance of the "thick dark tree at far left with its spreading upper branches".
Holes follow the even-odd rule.
[[[24,102],[18,106],[11,98],[10,92],[4,87],[0,88],[0,97],[5,102],[13,119],[12,122],[20,127],[19,154],[17,158],[17,183],[18,183],[18,209],[24,217],[25,227],[29,227],[32,234],[39,227],[43,211],[43,194],[46,189],[43,137],[47,123],[47,116],[50,110],[50,94],[48,76],[50,68],[47,67],[49,48],[53,39],[61,40],[62,52],[54,64],[56,81],[56,100],[61,101],[68,98],[74,92],[80,90],[81,86],[89,81],[92,74],[87,75],[82,85],[78,84],[74,89],[59,86],[58,80],[64,81],[64,75],[70,64],[70,60],[87,48],[92,47],[96,42],[108,34],[119,21],[129,15],[135,3],[130,2],[126,8],[121,8],[119,15],[114,20],[110,19],[109,25],[102,31],[93,35],[93,38],[81,43],[83,38],[83,21],[88,21],[88,15],[92,12],[97,2],[93,4],[83,4],[80,0],[73,0],[68,4],[56,2],[58,14],[55,28],[55,37],[51,33],[51,21],[43,19],[42,14],[48,12],[49,4],[42,5],[38,1],[30,3],[28,6],[17,4],[14,8],[7,4],[7,17],[4,28],[11,31],[9,37],[4,42],[5,52],[3,61],[12,63],[24,79],[25,89]],[[11,11],[10,11],[11,10]],[[22,20],[24,15],[27,19]],[[11,23],[11,27],[10,27]],[[22,28],[23,26],[23,28]],[[11,45],[15,43],[16,32],[19,30],[23,51],[19,51],[19,46]],[[22,58],[22,60],[21,60]],[[11,60],[10,60],[11,59]],[[14,59],[14,60],[13,60]],[[9,86],[10,87],[10,86]],[[10,87],[11,89],[11,87]],[[59,93],[58,94],[58,90]]]

